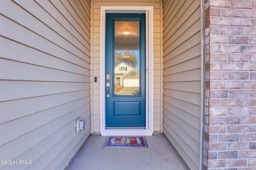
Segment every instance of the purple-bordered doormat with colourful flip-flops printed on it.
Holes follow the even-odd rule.
[[[108,136],[104,148],[147,148],[144,136]]]

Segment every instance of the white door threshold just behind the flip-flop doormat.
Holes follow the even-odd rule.
[[[104,129],[102,136],[152,136],[153,131],[148,129]]]

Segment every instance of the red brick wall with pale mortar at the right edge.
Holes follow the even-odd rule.
[[[204,170],[256,170],[256,0],[204,2]]]

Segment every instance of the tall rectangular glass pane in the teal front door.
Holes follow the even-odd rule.
[[[140,21],[114,21],[115,95],[140,95]]]

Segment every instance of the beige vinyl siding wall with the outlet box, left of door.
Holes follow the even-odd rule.
[[[32,161],[0,169],[63,170],[90,134],[90,0],[1,0],[0,13],[0,160]]]

